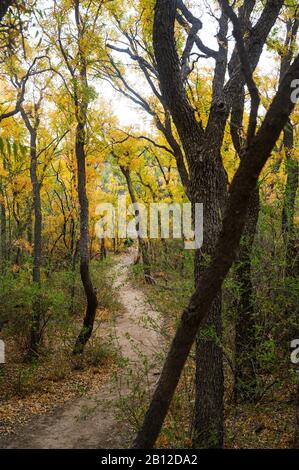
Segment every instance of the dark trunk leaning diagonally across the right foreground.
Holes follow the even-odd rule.
[[[182,315],[134,448],[151,448],[158,437],[198,327],[206,318],[236,257],[250,197],[260,172],[294,108],[294,103],[291,101],[291,83],[298,73],[299,57],[285,75],[263,124],[247,148],[233,179],[215,255],[201,276],[189,306]]]

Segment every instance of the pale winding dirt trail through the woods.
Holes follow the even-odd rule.
[[[113,326],[114,341],[121,348],[133,368],[139,367],[140,354],[151,357],[157,351],[160,336],[153,329],[144,326],[143,319],[158,320],[157,312],[149,306],[141,290],[133,287],[128,280],[128,266],[132,264],[134,253],[119,256],[116,266],[116,292],[124,306]],[[128,337],[128,334],[130,338]],[[13,438],[0,440],[0,448],[20,449],[88,449],[125,448],[132,436],[126,426],[115,416],[113,402],[118,399],[112,379],[103,383],[100,390],[89,392],[69,402],[53,412],[33,418],[19,430]],[[124,381],[123,381],[124,382]],[[126,389],[122,385],[122,394]]]

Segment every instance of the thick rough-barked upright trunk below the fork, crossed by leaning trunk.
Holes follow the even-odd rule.
[[[209,143],[211,154],[214,144]],[[223,204],[226,185],[224,174],[215,165],[217,159],[207,159],[203,168],[194,168],[191,184],[192,202],[203,202],[203,246],[195,254],[195,287],[213,256],[216,241],[222,227]],[[214,162],[212,165],[210,162]],[[205,184],[203,178],[206,179]],[[204,190],[203,190],[204,189]],[[205,321],[200,326],[196,340],[196,388],[195,420],[193,429],[194,448],[221,448],[223,445],[223,354],[221,291],[215,297]]]

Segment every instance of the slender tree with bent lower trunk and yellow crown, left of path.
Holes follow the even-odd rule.
[[[89,267],[89,201],[86,192],[86,129],[89,103],[93,98],[88,84],[88,72],[92,64],[89,53],[93,53],[93,42],[96,41],[95,28],[100,15],[102,2],[80,2],[74,0],[59,4],[54,2],[54,32],[43,27],[55,51],[65,67],[65,73],[59,67],[53,70],[60,76],[69,94],[74,108],[76,121],[75,155],[77,162],[78,200],[80,207],[80,275],[86,296],[86,311],[82,329],[77,337],[74,354],[80,354],[89,340],[94,325],[98,306],[97,292],[93,286]],[[74,22],[71,20],[74,15]],[[93,15],[93,16],[92,16]],[[71,33],[65,34],[70,28]],[[75,36],[75,41],[74,41]]]

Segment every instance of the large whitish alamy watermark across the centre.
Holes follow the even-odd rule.
[[[142,203],[127,206],[126,196],[119,196],[117,207],[112,203],[97,206],[98,238],[120,239],[183,239],[185,249],[199,249],[203,243],[203,204]]]

